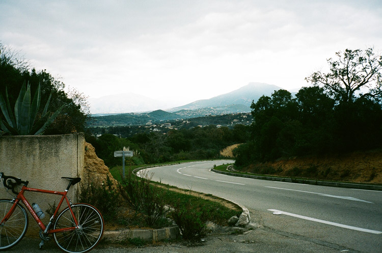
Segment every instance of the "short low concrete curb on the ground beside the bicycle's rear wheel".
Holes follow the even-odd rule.
[[[179,228],[177,226],[162,229],[120,229],[103,233],[103,239],[109,242],[121,242],[140,238],[144,241],[155,243],[162,240],[176,239],[178,236]]]

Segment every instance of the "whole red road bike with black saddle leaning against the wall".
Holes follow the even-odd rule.
[[[75,185],[80,178],[68,178],[69,185],[65,191],[51,191],[43,189],[28,188],[28,181],[22,181],[20,178],[5,176],[0,173],[0,180],[16,196],[12,200],[0,200],[0,250],[5,250],[16,245],[25,235],[28,229],[28,214],[20,203],[23,203],[26,209],[31,213],[33,219],[40,227],[41,243],[54,238],[60,249],[66,252],[87,252],[93,249],[101,240],[103,235],[104,223],[101,213],[89,204],[73,204],[67,197],[70,186]],[[23,184],[21,190],[17,192],[17,185]],[[37,216],[32,206],[25,199],[24,192],[42,192],[48,194],[61,195],[61,201],[58,204],[54,214],[50,217],[47,226]],[[61,205],[67,203],[68,207],[59,212]]]

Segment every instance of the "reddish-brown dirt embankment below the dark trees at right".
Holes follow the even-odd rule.
[[[292,157],[250,165],[244,170],[256,174],[381,184],[382,150]]]

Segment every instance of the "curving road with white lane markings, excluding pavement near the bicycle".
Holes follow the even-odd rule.
[[[347,252],[382,252],[382,192],[283,183],[216,174],[232,160],[147,168],[152,180],[211,193],[247,207],[252,221],[286,237]],[[346,252],[346,251],[343,251]]]

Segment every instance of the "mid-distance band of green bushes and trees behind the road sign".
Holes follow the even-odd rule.
[[[114,151],[129,147],[134,156],[126,161],[128,165],[143,165],[179,160],[200,160],[224,158],[220,151],[227,146],[242,143],[250,137],[250,126],[236,125],[232,129],[210,125],[191,129],[172,129],[167,133],[142,132],[130,137],[118,137],[112,133],[99,137],[87,134],[86,140],[92,144],[99,158],[108,167],[121,164],[114,157]]]

